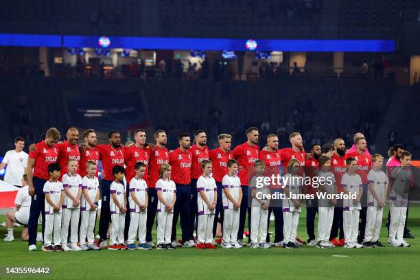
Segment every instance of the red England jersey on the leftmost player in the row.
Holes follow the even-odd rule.
[[[58,148],[56,145],[49,147],[45,141],[40,141],[35,147],[36,150],[29,154],[30,159],[35,160],[34,176],[49,180],[48,165],[57,163]]]

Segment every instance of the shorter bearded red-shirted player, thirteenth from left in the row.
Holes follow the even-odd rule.
[[[320,144],[315,143],[310,147],[311,157],[310,159],[305,159],[305,176],[314,178],[317,176],[319,163],[318,159],[321,155]],[[308,235],[307,246],[315,246],[315,215],[318,213],[318,198],[316,196],[317,188],[312,185],[305,185],[305,194],[314,195],[314,199],[306,200],[306,231]]]

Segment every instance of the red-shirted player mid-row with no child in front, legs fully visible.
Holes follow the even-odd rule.
[[[178,135],[179,147],[170,151],[172,167],[171,180],[176,184],[176,202],[174,205],[174,220],[172,222],[172,246],[179,246],[176,241],[176,223],[180,216],[183,247],[194,247],[194,237],[191,235],[191,139],[187,134]]]

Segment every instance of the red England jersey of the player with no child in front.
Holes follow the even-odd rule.
[[[189,150],[183,152],[178,148],[170,151],[169,155],[170,165],[172,167],[171,180],[180,185],[191,183],[191,152]]]

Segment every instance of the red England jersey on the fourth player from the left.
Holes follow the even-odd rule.
[[[102,167],[104,168],[104,180],[114,180],[113,167],[120,165],[124,167],[124,152],[122,148],[113,148],[108,145],[97,145],[97,151],[100,153]]]

